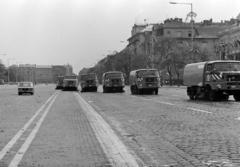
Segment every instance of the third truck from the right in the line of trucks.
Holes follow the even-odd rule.
[[[121,71],[109,71],[102,76],[103,93],[124,92],[125,79]]]

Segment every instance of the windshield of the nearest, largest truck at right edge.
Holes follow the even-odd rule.
[[[240,63],[224,62],[214,63],[214,70],[217,71],[240,71]]]

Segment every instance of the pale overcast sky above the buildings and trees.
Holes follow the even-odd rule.
[[[185,20],[190,5],[172,0],[0,0],[0,59],[20,64],[91,67],[121,51],[134,23]],[[240,0],[173,0],[193,3],[196,21],[236,18]],[[7,55],[2,55],[7,54]],[[8,60],[14,58],[14,60]]]

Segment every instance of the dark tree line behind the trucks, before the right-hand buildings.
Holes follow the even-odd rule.
[[[186,64],[203,62],[213,59],[214,53],[210,52],[201,42],[189,43],[180,41],[176,38],[157,38],[154,39],[152,53],[133,54],[130,50],[126,52],[107,55],[100,60],[94,67],[80,71],[79,75],[86,73],[96,73],[99,80],[102,74],[108,71],[122,71],[128,81],[132,70],[142,68],[158,69],[164,80],[173,84],[173,79],[182,79],[183,68]],[[166,77],[166,75],[168,75]]]

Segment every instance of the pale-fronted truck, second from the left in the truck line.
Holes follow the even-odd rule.
[[[62,90],[78,90],[78,78],[76,75],[65,75]]]

